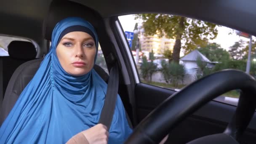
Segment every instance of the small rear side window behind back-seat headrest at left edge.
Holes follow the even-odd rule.
[[[0,35],[0,56],[9,56],[9,54],[8,54],[8,45],[13,40],[28,41],[28,42],[30,42],[29,40],[24,39],[24,38],[8,37],[8,36]]]

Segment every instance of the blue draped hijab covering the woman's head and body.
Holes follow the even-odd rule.
[[[98,124],[107,83],[94,69],[83,76],[68,74],[56,55],[61,32],[72,26],[90,29],[98,50],[96,31],[88,21],[70,17],[56,24],[49,53],[0,128],[0,144],[63,144]],[[131,132],[118,96],[108,142],[123,143]]]

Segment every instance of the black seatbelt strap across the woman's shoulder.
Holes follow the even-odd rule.
[[[113,115],[115,112],[115,104],[117,101],[117,92],[118,92],[118,83],[119,83],[119,74],[117,62],[110,70],[107,93],[104,101],[104,106],[101,110],[101,116],[99,123],[107,126],[108,130],[112,123]]]

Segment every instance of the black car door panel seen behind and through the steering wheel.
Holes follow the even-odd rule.
[[[175,91],[139,83],[135,88],[138,121],[143,120]],[[184,106],[185,107],[185,106]],[[236,106],[219,101],[210,101],[191,116],[179,123],[172,131],[167,143],[183,144],[188,141],[215,133],[222,133],[235,113]],[[168,114],[166,114],[168,115]],[[253,116],[242,141],[254,144],[256,137],[256,114]]]

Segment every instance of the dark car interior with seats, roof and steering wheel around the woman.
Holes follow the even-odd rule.
[[[247,0],[8,0],[1,4],[0,35],[21,37],[0,56],[0,125],[22,90],[35,75],[50,48],[58,21],[78,16],[89,21],[99,36],[107,64],[118,61],[119,89],[127,118],[134,128],[126,143],[254,144],[256,141],[256,80],[237,70],[204,77],[176,92],[142,83],[118,16],[166,13],[209,21],[256,35],[256,1]],[[108,82],[109,75],[94,69]],[[238,104],[214,98],[241,89]]]

